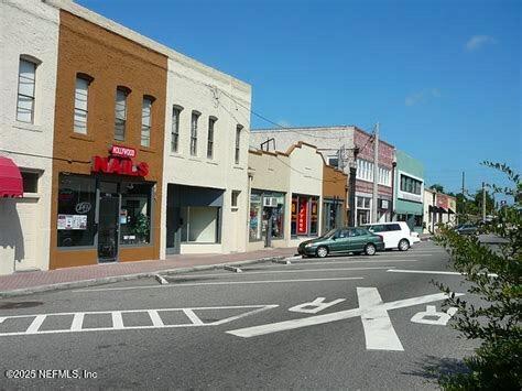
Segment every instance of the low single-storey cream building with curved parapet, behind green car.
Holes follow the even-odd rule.
[[[314,145],[249,153],[249,250],[295,247],[319,236],[325,161]]]

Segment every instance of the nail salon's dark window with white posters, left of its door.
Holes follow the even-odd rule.
[[[95,178],[59,174],[57,246],[94,246],[95,214]]]

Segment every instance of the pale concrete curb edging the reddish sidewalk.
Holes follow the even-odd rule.
[[[269,258],[260,258],[260,259],[250,259],[246,261],[236,261],[236,262],[225,262],[225,263],[214,263],[214,264],[202,264],[197,267],[189,267],[189,268],[176,268],[176,269],[165,269],[165,270],[155,270],[152,272],[143,272],[143,273],[134,273],[134,274],[123,274],[123,275],[115,275],[115,276],[107,276],[101,279],[89,279],[89,280],[79,280],[79,281],[70,281],[70,282],[58,282],[55,284],[48,285],[37,285],[31,287],[21,287],[12,291],[0,291],[0,298],[8,298],[8,297],[15,297],[15,296],[25,296],[34,293],[43,293],[43,292],[52,292],[58,290],[69,290],[76,287],[88,287],[95,285],[105,285],[105,284],[112,284],[115,282],[122,282],[122,281],[132,281],[139,279],[155,279],[157,273],[161,273],[162,276],[170,275],[170,274],[183,274],[183,273],[191,273],[197,272],[202,270],[216,270],[216,269],[225,269],[225,267],[239,267],[246,264],[253,264],[253,263],[262,263],[262,262],[270,262],[273,260],[284,259],[284,256],[280,257],[269,257]]]

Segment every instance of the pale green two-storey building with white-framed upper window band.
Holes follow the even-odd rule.
[[[406,221],[410,229],[422,232],[424,166],[403,151],[395,152],[393,220]]]

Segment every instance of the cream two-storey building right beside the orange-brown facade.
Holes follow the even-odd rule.
[[[167,55],[161,257],[246,251],[251,88]]]

